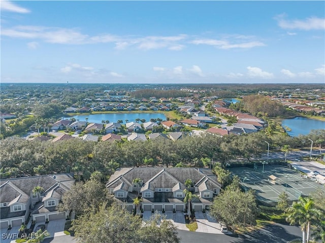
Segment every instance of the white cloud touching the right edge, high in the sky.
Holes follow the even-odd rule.
[[[286,15],[281,14],[275,17],[278,21],[278,25],[282,29],[301,29],[301,30],[312,30],[312,29],[325,29],[325,19],[318,17],[309,17],[303,20],[286,20]]]

